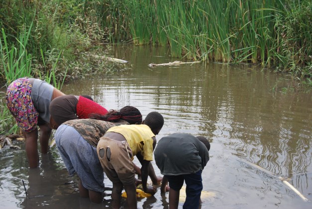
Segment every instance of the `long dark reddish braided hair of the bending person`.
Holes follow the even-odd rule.
[[[118,122],[118,120],[125,120],[130,124],[142,123],[142,114],[134,106],[124,106],[119,111],[111,109],[105,115],[92,114],[90,118],[105,120],[109,122]]]

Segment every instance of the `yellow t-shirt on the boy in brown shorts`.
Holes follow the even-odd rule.
[[[119,125],[109,128],[106,132],[116,132],[123,135],[132,150],[133,156],[141,152],[144,160],[153,160],[152,137],[155,134],[147,125]]]

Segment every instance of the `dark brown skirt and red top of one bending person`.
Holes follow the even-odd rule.
[[[108,113],[100,104],[82,96],[64,95],[56,98],[50,104],[51,120],[55,121],[55,127],[63,122],[74,119],[89,118],[92,113],[105,115]],[[50,122],[54,124],[54,121]]]

